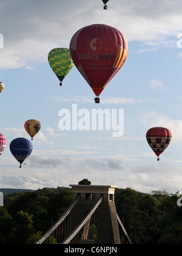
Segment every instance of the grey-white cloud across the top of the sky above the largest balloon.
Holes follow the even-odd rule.
[[[170,1],[144,0],[124,1],[123,4],[115,0],[109,2],[107,11],[103,10],[101,1],[69,0],[62,4],[58,0],[44,3],[32,0],[31,5],[29,2],[25,5],[23,0],[16,4],[7,0],[1,5],[4,49],[0,53],[0,67],[25,66],[32,69],[34,63],[47,62],[51,49],[69,47],[72,35],[81,27],[93,23],[116,27],[128,41],[140,41],[154,48],[176,47],[169,37],[177,38],[181,30],[181,10],[180,0],[174,4]]]

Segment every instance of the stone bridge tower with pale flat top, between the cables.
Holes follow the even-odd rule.
[[[84,216],[103,196],[103,201],[95,210],[95,224],[97,228],[97,244],[120,244],[120,232],[116,217],[114,201],[116,186],[112,185],[70,185],[73,190],[73,200],[80,195],[80,200],[72,209],[72,227],[75,228]],[[87,225],[83,236],[87,239]]]

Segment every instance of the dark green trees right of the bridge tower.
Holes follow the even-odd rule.
[[[165,191],[152,194],[117,190],[116,209],[130,239],[136,244],[182,243],[182,208],[177,206],[177,195]]]

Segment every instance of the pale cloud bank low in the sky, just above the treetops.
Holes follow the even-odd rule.
[[[40,161],[41,159],[35,159]],[[52,159],[53,160],[53,159]],[[48,160],[47,160],[48,161]],[[54,169],[52,175],[52,165],[49,162],[42,162],[42,168],[33,168],[27,170],[29,165],[25,165],[22,176],[17,168],[16,176],[3,175],[0,179],[0,187],[16,188],[16,189],[39,189],[43,187],[69,187],[69,184],[78,184],[83,178],[89,179],[92,184],[96,185],[116,185],[119,188],[126,189],[130,187],[136,191],[151,193],[152,190],[166,190],[168,193],[176,193],[181,191],[182,177],[177,168],[169,165],[163,167],[156,166],[140,166],[126,167],[122,162],[116,159],[84,159],[75,165],[75,169],[58,164],[58,170]],[[38,164],[35,162],[35,164]],[[45,168],[49,164],[49,168]],[[86,168],[84,168],[86,167]],[[31,175],[29,175],[31,170]],[[39,171],[38,171],[39,170]],[[90,171],[92,170],[92,171]],[[99,170],[99,171],[98,171]],[[112,176],[110,175],[112,171]],[[159,178],[160,171],[160,178]],[[104,173],[104,175],[103,175]],[[74,175],[73,175],[74,174]]]

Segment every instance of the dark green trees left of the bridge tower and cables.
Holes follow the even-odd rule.
[[[0,207],[0,243],[35,243],[69,206],[72,190],[43,188],[9,193],[5,198]]]

